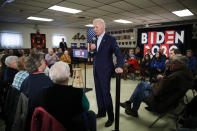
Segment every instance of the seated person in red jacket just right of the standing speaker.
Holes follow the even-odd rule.
[[[129,66],[129,73],[131,74],[131,79],[135,79],[136,70],[139,69],[138,60],[135,58],[134,55],[131,55],[131,58],[129,60],[126,60],[126,63],[128,63]]]

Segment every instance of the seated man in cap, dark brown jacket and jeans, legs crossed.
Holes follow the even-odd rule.
[[[170,75],[152,85],[140,82],[130,99],[120,104],[126,109],[125,113],[138,117],[138,109],[143,101],[148,104],[147,109],[157,113],[163,113],[176,105],[192,87],[192,73],[187,68],[187,58],[182,55],[173,57],[170,69],[172,71]],[[133,104],[132,109],[131,104]]]

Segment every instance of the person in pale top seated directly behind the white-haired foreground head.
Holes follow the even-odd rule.
[[[53,53],[53,49],[49,48],[48,49],[48,54],[45,55],[45,60],[48,64],[48,67],[50,68],[53,64],[55,64],[55,62],[58,61],[58,56]]]

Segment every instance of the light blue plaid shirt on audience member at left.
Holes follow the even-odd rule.
[[[20,90],[22,82],[29,76],[29,73],[27,71],[19,71],[15,77],[14,81],[12,83],[12,86],[15,87],[16,89]]]

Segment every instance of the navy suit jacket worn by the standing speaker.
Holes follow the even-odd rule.
[[[106,76],[114,70],[113,53],[117,57],[116,67],[123,68],[122,53],[116,43],[116,39],[105,33],[98,51],[94,53],[94,71],[99,71],[97,72],[98,75]]]

